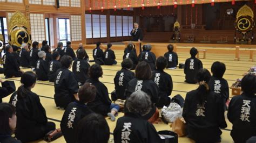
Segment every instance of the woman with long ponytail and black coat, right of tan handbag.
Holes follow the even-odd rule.
[[[196,142],[220,142],[220,128],[227,127],[224,103],[210,91],[211,74],[207,69],[200,69],[196,78],[199,87],[187,93],[183,108],[188,137]]]

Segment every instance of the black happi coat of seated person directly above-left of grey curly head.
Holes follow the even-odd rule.
[[[120,77],[121,74],[123,78],[122,76]],[[116,90],[117,99],[126,99],[124,96],[124,91],[128,85],[128,82],[131,81],[133,78],[134,73],[126,68],[122,68],[121,70],[117,71],[117,74],[114,77],[114,90]]]

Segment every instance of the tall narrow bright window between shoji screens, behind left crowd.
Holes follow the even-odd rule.
[[[70,24],[69,19],[59,19],[59,41],[66,45],[70,41]]]

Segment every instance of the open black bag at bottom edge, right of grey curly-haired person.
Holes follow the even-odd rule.
[[[164,131],[159,131],[158,134],[164,143],[178,143],[177,133],[164,130]]]

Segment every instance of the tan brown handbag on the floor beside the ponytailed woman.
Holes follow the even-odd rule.
[[[177,118],[171,125],[172,131],[178,134],[178,137],[186,135],[186,121],[184,118]]]

